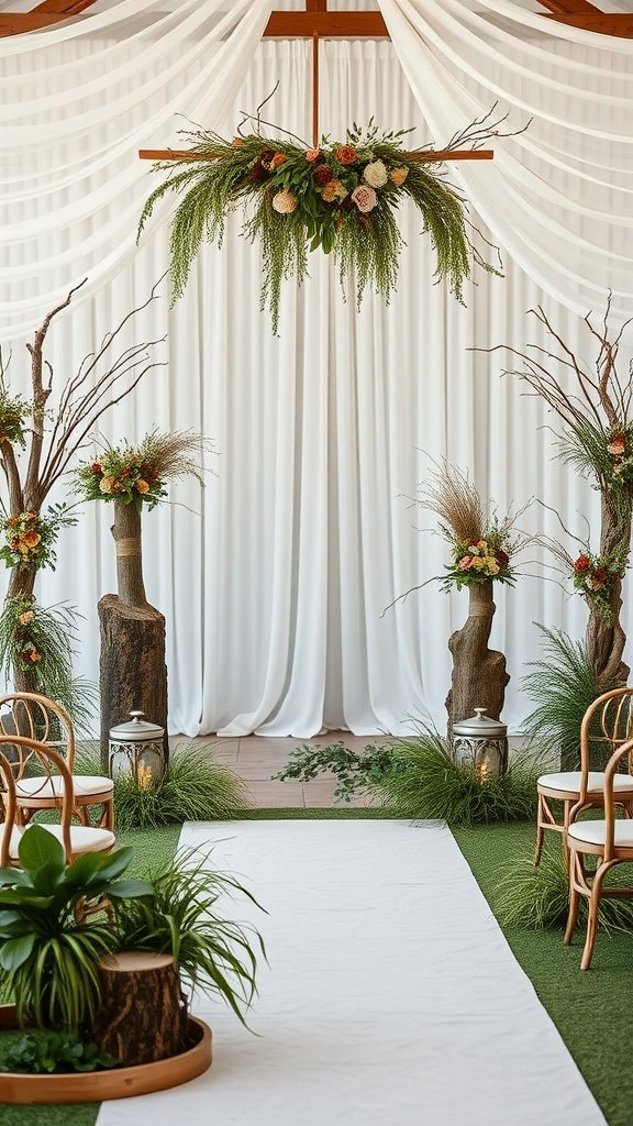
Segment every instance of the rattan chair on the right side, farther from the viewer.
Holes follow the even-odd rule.
[[[605,776],[600,769],[590,769],[592,759],[599,757],[600,765],[612,752],[633,735],[633,688],[614,688],[598,696],[587,708],[580,727],[580,770],[562,770],[558,774],[541,775],[536,784],[538,805],[536,813],[536,852],[534,864],[538,865],[543,851],[546,829],[561,833],[567,857],[567,833],[571,823],[571,811],[604,804]],[[631,757],[630,757],[631,758]],[[632,761],[628,774],[614,777],[615,804],[626,816],[633,816]],[[562,817],[556,819],[552,802],[562,803]],[[577,815],[576,814],[576,815]]]

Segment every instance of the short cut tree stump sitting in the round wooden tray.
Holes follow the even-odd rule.
[[[130,1066],[187,1048],[187,1006],[170,955],[113,955],[101,960],[99,980],[101,1004],[91,1033],[101,1052]]]

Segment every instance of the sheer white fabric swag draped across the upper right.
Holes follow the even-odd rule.
[[[496,101],[508,128],[527,125],[496,138],[492,169],[451,170],[493,235],[556,301],[582,313],[612,293],[612,313],[625,320],[633,305],[630,41],[561,28],[505,0],[380,7],[436,143]],[[617,182],[605,178],[614,161]]]

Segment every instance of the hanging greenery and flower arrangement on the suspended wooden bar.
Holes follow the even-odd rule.
[[[347,277],[354,275],[358,305],[366,288],[389,303],[404,245],[395,213],[409,198],[433,242],[435,279],[446,280],[462,301],[473,262],[500,271],[473,245],[466,202],[445,179],[442,159],[434,161],[430,150],[404,150],[403,137],[410,132],[381,133],[372,119],[366,129],[355,124],[345,141],[323,137],[318,148],[259,134],[226,141],[202,129],[185,133],[187,153],[179,154],[178,166],[173,160],[154,163],[154,171],[169,171],[169,176],[146,200],[139,236],[163,196],[181,197],[170,242],[177,300],[203,241],[221,247],[226,217],[250,204],[242,233],[251,242],[260,241],[261,307],[269,307],[277,332],[282,282],[295,277],[301,285],[313,250],[333,254],[344,292]],[[475,122],[456,134],[444,152],[464,144],[474,150],[497,135],[492,126]]]

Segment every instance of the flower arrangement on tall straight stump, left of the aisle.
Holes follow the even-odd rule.
[[[191,431],[154,430],[139,446],[106,446],[75,471],[74,489],[83,500],[114,501],[118,592],[99,601],[104,768],[110,729],[137,709],[163,729],[164,762],[169,759],[164,617],[145,597],[141,513],[167,499],[170,480],[194,476],[203,484],[199,459],[208,447]]]

